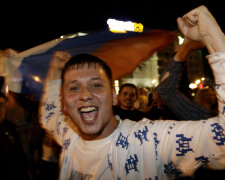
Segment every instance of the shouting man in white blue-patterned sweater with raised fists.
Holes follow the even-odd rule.
[[[225,51],[225,36],[204,6],[179,18],[178,25],[212,54],[220,115],[207,121],[121,121],[113,116],[116,95],[109,68],[94,56],[72,57],[61,86],[69,118],[57,113],[56,71],[49,72],[41,107],[43,126],[62,145],[60,179],[171,179],[191,175],[203,164],[225,168],[225,54],[217,53]]]

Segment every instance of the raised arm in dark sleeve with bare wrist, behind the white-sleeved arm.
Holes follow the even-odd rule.
[[[182,46],[175,54],[165,69],[160,84],[157,87],[161,101],[182,120],[198,120],[210,117],[210,112],[187,98],[179,90],[179,82],[186,66],[189,54],[196,49],[202,48],[201,42],[184,38]]]

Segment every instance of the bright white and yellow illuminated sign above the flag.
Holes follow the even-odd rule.
[[[143,24],[131,21],[108,19],[107,24],[109,26],[109,30],[113,33],[126,33],[127,31],[143,32],[144,29]]]

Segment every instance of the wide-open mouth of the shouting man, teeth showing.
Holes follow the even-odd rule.
[[[90,107],[81,107],[79,109],[79,113],[81,118],[85,121],[91,122],[97,118],[98,115],[98,108],[94,106]]]

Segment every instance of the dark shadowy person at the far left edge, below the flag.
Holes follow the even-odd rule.
[[[7,97],[0,93],[0,169],[7,180],[32,180],[16,124],[6,119]]]

